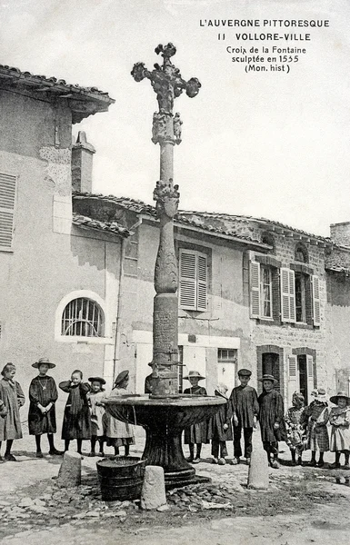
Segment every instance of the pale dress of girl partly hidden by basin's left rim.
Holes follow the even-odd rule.
[[[114,400],[126,393],[128,392],[125,388],[114,388],[105,399]],[[103,422],[108,447],[135,445],[135,426],[133,424],[119,421],[108,412],[105,412]]]

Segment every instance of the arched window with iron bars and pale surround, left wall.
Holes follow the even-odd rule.
[[[61,334],[79,337],[104,336],[104,312],[92,299],[78,297],[65,306]]]

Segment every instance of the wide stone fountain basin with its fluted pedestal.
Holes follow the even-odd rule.
[[[172,488],[204,480],[195,477],[195,469],[185,460],[181,434],[186,427],[209,419],[225,402],[211,396],[124,395],[105,400],[105,411],[120,421],[145,428],[142,458],[147,465],[163,467],[165,486]]]

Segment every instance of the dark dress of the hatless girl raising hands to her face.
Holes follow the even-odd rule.
[[[90,391],[87,382],[71,385],[71,381],[59,383],[61,390],[69,393],[65,404],[62,439],[90,439],[91,421],[86,394]]]

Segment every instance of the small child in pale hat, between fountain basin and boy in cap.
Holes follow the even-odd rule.
[[[226,396],[228,388],[225,384],[220,383],[215,388],[215,395],[223,397],[226,400],[225,405],[221,405],[220,409],[209,420],[208,439],[212,441],[212,456],[213,463],[225,465],[225,457],[227,456],[226,441],[232,441],[232,405]]]

